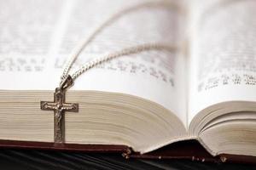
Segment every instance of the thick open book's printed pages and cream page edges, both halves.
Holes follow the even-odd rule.
[[[110,60],[67,91],[67,144],[140,153],[196,139],[219,154],[256,156],[255,1],[4,1],[0,5],[0,139],[52,143],[65,60],[113,14],[73,71],[148,42],[177,47]],[[126,11],[122,13],[122,11]],[[128,11],[128,12],[127,12]]]

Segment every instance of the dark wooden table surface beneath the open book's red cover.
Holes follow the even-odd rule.
[[[181,160],[125,160],[120,155],[49,150],[0,150],[0,169],[256,169],[256,165]]]

